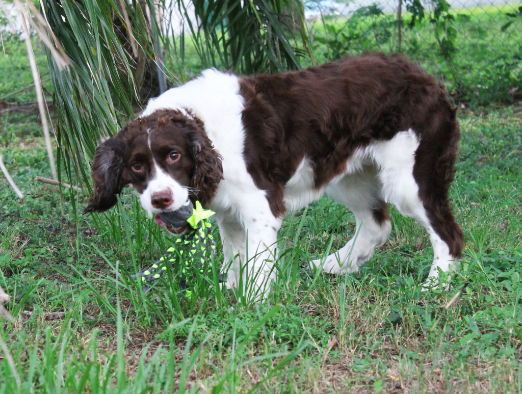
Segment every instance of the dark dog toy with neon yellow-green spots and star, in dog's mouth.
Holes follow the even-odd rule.
[[[211,267],[206,263],[209,261],[210,253],[216,253],[216,243],[211,233],[211,224],[207,220],[215,212],[203,209],[199,201],[193,208],[192,202],[187,200],[185,204],[176,211],[162,212],[156,215],[155,221],[158,225],[164,226],[171,233],[181,234],[176,238],[175,246],[167,249],[158,261],[151,267],[141,270],[132,278],[141,280],[143,290],[150,289],[149,284],[160,279],[167,270],[167,264],[173,264],[178,259],[182,262],[180,289],[184,292],[187,299],[191,299],[194,288],[194,277],[199,271],[203,274],[210,272]],[[223,282],[224,277],[219,274],[219,282]],[[192,284],[192,286],[191,286]]]

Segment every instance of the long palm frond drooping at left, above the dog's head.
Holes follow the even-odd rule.
[[[45,14],[71,64],[62,70],[49,56],[58,157],[69,180],[78,177],[89,185],[90,160],[100,139],[114,134],[120,120],[134,117],[139,57],[154,56],[149,23],[139,5],[122,1],[48,0]]]

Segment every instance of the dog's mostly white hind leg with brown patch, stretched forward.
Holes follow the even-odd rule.
[[[360,173],[345,175],[339,182],[328,186],[326,193],[353,212],[355,234],[336,253],[324,260],[313,260],[311,266],[329,273],[357,271],[374,255],[375,248],[386,242],[392,231],[376,170],[368,167]]]

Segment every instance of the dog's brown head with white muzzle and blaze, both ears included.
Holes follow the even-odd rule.
[[[221,157],[203,122],[184,111],[159,110],[129,123],[96,149],[94,194],[85,212],[113,207],[127,185],[149,216],[175,211],[187,199],[205,206],[222,177]]]

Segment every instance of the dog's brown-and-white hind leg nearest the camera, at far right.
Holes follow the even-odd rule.
[[[452,137],[458,141],[458,133],[448,136]],[[374,150],[385,201],[417,220],[430,236],[434,259],[429,277],[438,277],[438,269],[448,271],[464,246],[464,235],[448,201],[456,141],[438,144],[428,138],[419,141],[409,130],[380,142]]]

